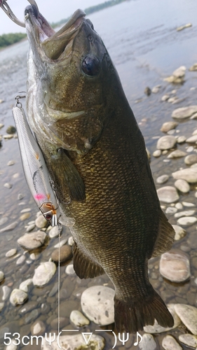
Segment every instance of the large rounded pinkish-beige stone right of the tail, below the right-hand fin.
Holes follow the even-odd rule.
[[[168,251],[161,255],[159,272],[172,282],[183,282],[191,276],[189,259],[181,251]]]

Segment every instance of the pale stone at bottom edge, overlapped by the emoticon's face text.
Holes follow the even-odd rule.
[[[85,337],[85,339],[84,339]],[[88,344],[88,345],[87,345]],[[48,350],[48,342],[46,339],[43,341],[42,350]],[[58,344],[57,344],[57,337],[55,338],[54,342],[50,345],[50,350],[57,350],[57,349],[63,349],[63,350],[102,350],[104,349],[104,338],[100,337],[100,335],[95,335],[92,333],[83,333],[77,334],[77,335],[60,335],[58,337]]]

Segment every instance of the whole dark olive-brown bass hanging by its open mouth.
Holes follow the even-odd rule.
[[[175,235],[161,210],[142,133],[93,24],[77,10],[55,31],[35,6],[29,39],[27,115],[60,210],[75,220],[76,274],[114,283],[119,332],[173,318],[149,282],[148,260]]]

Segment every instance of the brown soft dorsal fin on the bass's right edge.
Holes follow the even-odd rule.
[[[158,237],[154,245],[154,252],[151,256],[158,256],[165,253],[165,251],[169,251],[174,242],[174,238],[175,230],[172,228],[172,225],[168,223],[168,218],[166,218],[165,214],[161,210]]]

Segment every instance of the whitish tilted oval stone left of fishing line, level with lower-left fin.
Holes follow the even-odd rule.
[[[41,265],[35,269],[33,276],[34,286],[44,286],[52,279],[56,272],[56,265],[52,261],[41,262]]]

